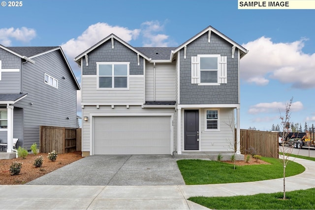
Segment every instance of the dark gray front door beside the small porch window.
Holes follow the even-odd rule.
[[[185,150],[199,150],[199,110],[184,111]]]

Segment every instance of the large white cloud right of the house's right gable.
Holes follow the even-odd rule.
[[[306,41],[274,43],[263,36],[244,44],[249,53],[241,61],[241,78],[257,85],[276,79],[295,88],[314,88],[315,53],[302,52]]]

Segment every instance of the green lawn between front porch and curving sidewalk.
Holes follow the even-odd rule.
[[[220,162],[200,159],[178,160],[177,164],[187,185],[217,184],[246,181],[271,180],[283,177],[283,165],[279,159],[262,157],[269,165],[236,166]],[[305,168],[295,162],[286,166],[286,177],[304,172]]]

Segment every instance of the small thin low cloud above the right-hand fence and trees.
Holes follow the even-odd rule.
[[[248,110],[249,114],[259,114],[259,113],[280,113],[285,111],[286,103],[284,102],[271,102],[271,103],[258,103],[251,106]],[[303,109],[303,104],[300,101],[293,102],[290,107],[291,112],[297,112]]]

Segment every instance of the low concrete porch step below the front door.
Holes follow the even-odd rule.
[[[175,159],[206,159],[218,160],[218,152],[182,152],[182,154],[173,153]],[[222,152],[222,161],[230,160],[232,157],[231,152]],[[244,154],[235,154],[235,160],[244,160]]]

